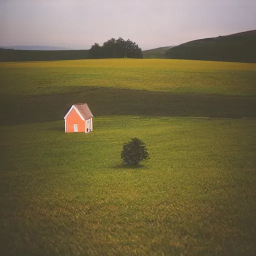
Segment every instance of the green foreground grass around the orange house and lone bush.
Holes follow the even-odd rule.
[[[97,117],[1,127],[2,255],[253,255],[255,120]],[[121,165],[137,136],[151,159]]]

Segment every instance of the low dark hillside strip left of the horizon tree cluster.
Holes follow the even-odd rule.
[[[88,58],[89,50],[14,50],[0,49],[0,61],[41,61]]]

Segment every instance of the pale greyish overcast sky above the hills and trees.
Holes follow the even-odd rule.
[[[256,0],[0,0],[0,45],[142,49],[256,29]]]

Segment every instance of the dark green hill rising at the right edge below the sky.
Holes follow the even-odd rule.
[[[256,62],[256,30],[182,43],[167,50],[165,57]]]

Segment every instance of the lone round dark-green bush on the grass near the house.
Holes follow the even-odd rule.
[[[145,143],[139,138],[131,138],[131,141],[123,143],[121,158],[124,163],[138,165],[139,162],[149,159],[149,153]]]

